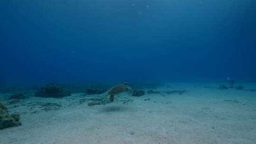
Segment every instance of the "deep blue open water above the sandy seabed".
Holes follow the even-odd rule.
[[[255,0],[1,0],[0,83],[256,81]]]

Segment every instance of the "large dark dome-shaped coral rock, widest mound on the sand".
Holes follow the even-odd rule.
[[[54,83],[47,84],[46,86],[42,87],[41,90],[38,90],[35,93],[35,96],[43,98],[62,98],[66,96],[71,96],[71,92],[62,87],[61,84]]]

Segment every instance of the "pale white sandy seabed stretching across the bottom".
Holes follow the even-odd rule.
[[[134,100],[128,105],[114,101],[89,107],[88,102],[79,104],[86,98],[81,94],[30,98],[16,108],[7,105],[9,113],[20,113],[22,125],[0,130],[0,144],[256,144],[256,91],[218,90],[219,83],[169,85],[155,90],[187,92],[120,95],[119,100]],[[256,88],[255,83],[243,85]],[[31,101],[63,107],[44,111],[39,106],[21,106]]]

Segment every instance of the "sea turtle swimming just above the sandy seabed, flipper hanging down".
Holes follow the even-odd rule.
[[[110,101],[114,101],[114,95],[118,95],[126,91],[128,82],[114,85],[110,90],[107,91],[107,95],[110,95]]]

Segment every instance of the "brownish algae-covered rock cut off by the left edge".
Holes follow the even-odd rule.
[[[9,115],[7,108],[0,102],[0,129],[20,125],[21,123],[19,122],[19,115]]]

